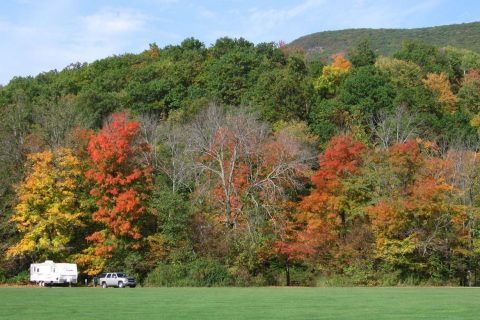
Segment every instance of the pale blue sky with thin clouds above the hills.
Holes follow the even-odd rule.
[[[0,0],[0,84],[188,37],[288,43],[326,30],[473,21],[479,0]]]

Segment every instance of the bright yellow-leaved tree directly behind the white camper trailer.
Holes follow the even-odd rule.
[[[70,149],[28,156],[27,176],[17,189],[19,199],[11,221],[21,234],[7,258],[66,259],[84,215],[76,194],[82,170]]]

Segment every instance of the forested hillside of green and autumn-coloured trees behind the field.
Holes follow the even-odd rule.
[[[349,49],[186,39],[12,79],[0,279],[478,284],[480,55]]]

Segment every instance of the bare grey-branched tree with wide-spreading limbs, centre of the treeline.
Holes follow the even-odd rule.
[[[282,131],[272,135],[245,110],[224,113],[210,106],[187,130],[202,185],[198,191],[213,193],[211,199],[215,206],[222,205],[229,228],[245,222],[245,201],[258,208],[267,199],[276,199],[287,185],[295,189],[296,175],[309,158],[295,137]],[[262,199],[257,198],[260,195]]]

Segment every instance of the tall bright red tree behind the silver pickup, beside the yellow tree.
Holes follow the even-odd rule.
[[[152,171],[139,159],[149,148],[139,141],[139,127],[138,122],[128,121],[125,113],[116,113],[88,144],[91,169],[86,177],[94,185],[90,194],[98,208],[92,219],[102,229],[87,237],[94,247],[77,261],[93,264],[88,266],[90,273],[102,269],[120,246],[140,246],[141,218],[146,214],[144,204],[151,190]]]

